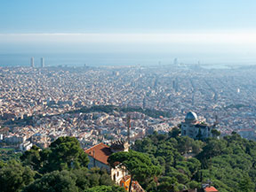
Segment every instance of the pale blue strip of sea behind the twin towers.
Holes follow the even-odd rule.
[[[237,65],[256,65],[256,62],[243,59],[229,59],[216,57],[194,57],[193,55],[174,55],[159,53],[17,53],[0,54],[0,66],[29,66],[30,58],[34,57],[35,65],[40,65],[44,58],[45,66],[100,66],[100,65],[173,65],[174,59],[178,63],[197,65],[204,68],[227,69]]]

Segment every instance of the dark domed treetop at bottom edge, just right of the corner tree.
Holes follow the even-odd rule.
[[[78,192],[76,187],[76,176],[63,170],[46,173],[41,179],[35,180],[28,185],[23,192]]]

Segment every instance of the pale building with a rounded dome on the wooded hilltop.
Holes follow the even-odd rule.
[[[181,135],[204,140],[212,136],[212,127],[199,122],[196,113],[189,111],[185,121],[181,122]]]

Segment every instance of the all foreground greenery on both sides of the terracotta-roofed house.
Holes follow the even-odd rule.
[[[116,160],[148,192],[201,188],[209,180],[220,192],[256,191],[256,142],[236,133],[202,142],[181,137],[174,128],[136,141],[130,152],[116,153],[108,162]],[[48,149],[34,146],[20,160],[0,160],[1,191],[124,192],[106,171],[88,170],[88,161],[76,138],[60,137]]]

